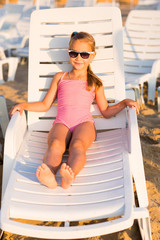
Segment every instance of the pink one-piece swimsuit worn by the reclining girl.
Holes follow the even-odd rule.
[[[83,122],[94,123],[90,107],[95,98],[95,88],[88,91],[87,81],[65,80],[65,74],[58,84],[58,113],[53,124],[62,123],[73,132]]]

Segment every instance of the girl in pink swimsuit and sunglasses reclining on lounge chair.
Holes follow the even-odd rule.
[[[60,168],[62,187],[68,188],[86,162],[86,151],[96,138],[94,120],[90,106],[96,98],[100,112],[110,118],[126,106],[139,104],[125,99],[114,106],[108,106],[101,80],[92,72],[90,62],[94,59],[94,38],[85,32],[74,32],[69,43],[71,72],[59,72],[53,77],[50,89],[41,102],[21,103],[13,107],[11,115],[23,110],[47,111],[58,93],[58,113],[48,135],[48,149],[44,161],[38,167],[36,176],[49,188],[56,188],[55,174]],[[63,163],[62,155],[69,145],[69,158]]]

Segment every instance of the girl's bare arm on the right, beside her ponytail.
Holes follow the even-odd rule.
[[[124,99],[115,105],[109,106],[105,97],[103,86],[96,91],[96,101],[100,112],[105,118],[110,118],[116,115],[127,106],[130,108],[136,108],[137,113],[139,113],[140,109],[138,102],[135,102],[131,99]]]

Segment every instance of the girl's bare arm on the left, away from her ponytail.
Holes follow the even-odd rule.
[[[59,79],[61,78],[63,73],[57,73],[52,80],[51,86],[44,97],[44,99],[40,102],[24,102],[17,104],[14,106],[11,111],[10,115],[12,116],[16,111],[19,111],[22,114],[23,110],[32,111],[32,112],[46,112],[54,102],[57,94],[57,87]]]

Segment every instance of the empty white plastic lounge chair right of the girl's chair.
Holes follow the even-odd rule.
[[[127,86],[139,89],[148,82],[148,100],[155,102],[160,73],[160,11],[132,10],[124,28],[124,63]],[[142,102],[143,103],[143,102]]]

